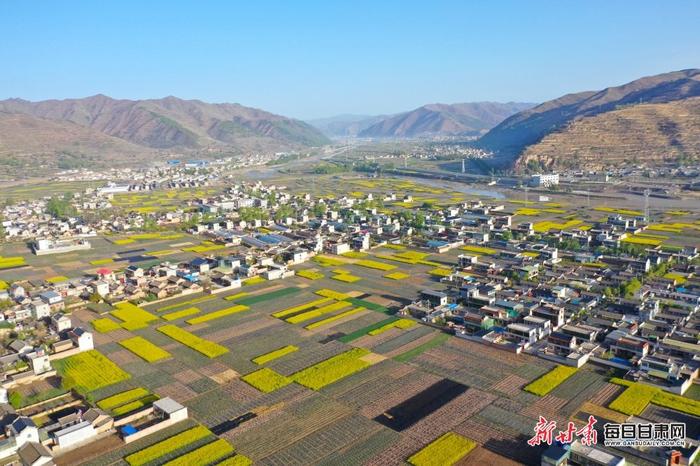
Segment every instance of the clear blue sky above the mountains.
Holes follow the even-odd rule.
[[[541,102],[700,67],[700,1],[0,1],[0,98],[297,118]]]

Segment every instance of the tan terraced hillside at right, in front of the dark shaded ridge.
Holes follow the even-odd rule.
[[[527,147],[516,167],[602,168],[698,157],[700,97],[694,97],[575,120]]]

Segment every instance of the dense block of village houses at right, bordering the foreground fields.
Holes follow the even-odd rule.
[[[621,216],[586,230],[536,233],[521,224],[503,239],[494,226],[501,217],[463,215],[490,236],[459,256],[441,279],[446,289],[423,290],[403,312],[516,353],[624,369],[674,393],[692,385],[700,367],[697,248],[621,251],[611,238],[645,228]]]

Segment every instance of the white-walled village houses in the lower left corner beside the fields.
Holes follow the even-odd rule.
[[[67,298],[75,296],[83,284],[65,282],[50,286],[50,290],[45,289],[47,284],[27,291],[13,284],[5,292],[22,306],[24,313],[6,310],[2,314],[5,323],[11,322],[14,328],[2,330],[5,344],[0,349],[0,461],[15,459],[13,464],[19,461],[28,466],[53,464],[57,453],[90,443],[103,434],[117,432],[129,443],[187,419],[187,408],[170,398],[116,418],[92,406],[78,392],[20,408],[27,403],[17,403],[14,397],[26,392],[25,387],[31,393],[34,384],[56,380],[54,361],[94,348],[92,333],[75,327],[65,312]],[[29,310],[28,315],[25,309]],[[15,337],[8,339],[10,335]],[[31,417],[27,412],[31,412]],[[41,418],[42,412],[51,415],[49,422],[37,425],[32,419]]]

